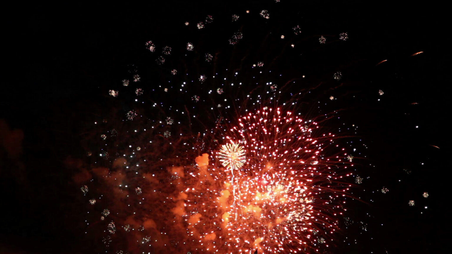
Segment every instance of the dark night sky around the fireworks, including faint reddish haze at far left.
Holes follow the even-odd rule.
[[[102,121],[109,110],[120,112],[122,121],[129,110],[126,103],[111,103],[108,90],[121,85],[132,64],[143,80],[160,69],[170,70],[167,62],[155,64],[158,55],[151,56],[145,42],[171,45],[177,56],[185,53],[185,38],[189,38],[224,59],[227,48],[233,47],[227,39],[236,31],[228,30],[231,14],[246,19],[247,9],[254,15],[268,9],[268,21],[255,17],[248,24],[268,22],[259,29],[276,37],[282,33],[293,37],[292,27],[300,24],[300,36],[307,39],[301,56],[275,60],[276,49],[260,49],[268,52],[266,64],[274,60],[272,71],[290,79],[297,62],[304,67],[297,75],[313,77],[312,86],[330,79],[325,81],[327,89],[313,90],[303,107],[314,114],[316,103],[323,101],[327,103],[320,106],[323,113],[340,109],[341,121],[357,125],[357,135],[367,145],[366,157],[356,161],[363,183],[356,184],[352,196],[359,200],[348,203],[354,224],[341,230],[340,238],[347,240],[330,248],[330,253],[447,253],[451,249],[446,237],[451,88],[446,68],[450,58],[444,46],[449,36],[446,15],[443,7],[433,4],[393,5],[166,0],[5,8],[0,252],[105,253],[100,236],[85,234],[88,198],[74,175],[79,173],[76,163],[86,160],[86,147],[100,142],[97,132],[93,141],[86,134],[94,130],[92,123]],[[198,33],[195,25],[207,15],[215,18],[212,29],[206,25]],[[190,28],[185,28],[185,21]],[[287,29],[279,31],[279,27]],[[250,38],[259,29],[244,31],[241,48],[218,69],[252,64],[240,56],[246,55],[244,48],[254,47],[245,36]],[[338,40],[342,32],[348,33],[345,42]],[[330,36],[327,42],[338,42],[319,49],[317,38],[322,34]],[[277,43],[269,44],[277,47]],[[416,52],[423,53],[411,56]],[[387,61],[377,66],[383,60]],[[333,84],[332,74],[338,69],[343,70],[344,85],[332,88],[328,82]],[[379,89],[384,91],[381,96]],[[330,95],[336,97],[334,104]],[[174,105],[193,103],[185,97],[166,99]],[[381,193],[383,186],[388,193]],[[428,198],[422,197],[424,192]],[[415,200],[414,207],[409,200]],[[359,226],[361,221],[367,230]],[[177,253],[173,251],[168,247],[169,253]]]

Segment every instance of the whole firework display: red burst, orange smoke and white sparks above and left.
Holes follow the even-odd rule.
[[[264,19],[256,14],[259,22],[268,22],[268,13],[260,13]],[[238,15],[232,16],[232,21],[238,19]],[[193,30],[214,26],[210,24],[212,20],[207,16]],[[231,23],[229,18],[227,21]],[[284,31],[290,31],[292,26]],[[243,38],[242,31],[247,30],[240,28],[232,35],[231,45]],[[294,38],[303,36],[300,25],[292,31],[275,35],[278,43],[279,38],[288,42],[286,49],[290,51],[295,46],[291,43],[297,42]],[[223,41],[226,45],[227,36]],[[316,42],[316,38],[312,41]],[[320,43],[325,43],[322,38]],[[245,46],[249,39],[253,37],[245,38]],[[108,204],[111,212],[99,210],[101,220],[111,214],[108,218],[113,216],[115,221],[102,222],[105,234],[115,233],[116,223],[124,229],[119,230],[121,234],[127,233],[127,237],[142,244],[144,253],[160,253],[168,246],[178,253],[231,254],[254,253],[256,249],[259,253],[306,253],[328,248],[345,210],[350,184],[344,179],[352,177],[349,167],[353,156],[345,153],[335,143],[335,134],[324,132],[319,122],[302,119],[300,107],[281,103],[279,94],[293,97],[292,105],[299,99],[291,93],[284,94],[287,80],[263,75],[256,81],[254,73],[236,71],[235,66],[229,69],[233,72],[198,68],[203,65],[220,69],[219,63],[224,61],[221,57],[228,54],[207,48],[195,38],[181,38],[180,43],[169,45],[174,46],[174,51],[163,47],[161,54],[165,57],[183,51],[185,56],[195,56],[202,63],[179,65],[172,59],[179,56],[168,56],[166,62],[163,56],[152,56],[161,80],[152,79],[148,73],[141,80],[136,68],[119,79],[140,81],[146,93],[136,87],[121,89],[121,102],[127,100],[123,94],[132,94],[133,99],[141,96],[140,103],[135,99],[132,105],[122,105],[121,116],[125,114],[127,120],[134,121],[117,119],[114,127],[121,135],[109,135],[97,151],[104,160],[96,162],[95,167],[108,168],[105,172],[93,169],[99,185],[104,187],[99,188],[99,192],[104,192],[99,202],[113,196],[113,205]],[[254,46],[258,45],[251,47]],[[153,42],[147,42],[146,48],[155,52]],[[206,52],[215,52],[215,58]],[[270,73],[275,61],[265,54],[257,55],[252,61],[243,61],[243,68],[259,74],[269,69]],[[192,66],[199,70],[193,72]],[[173,68],[179,69],[179,75]],[[325,75],[331,79],[330,72]],[[298,73],[297,76],[305,77]],[[341,76],[337,72],[334,79]],[[123,85],[128,86],[128,80]],[[240,97],[242,91],[245,98]],[[243,99],[247,101],[242,103]],[[146,106],[140,108],[141,103]],[[280,108],[275,107],[279,104]],[[104,125],[108,125],[105,131],[113,128],[113,123]],[[105,132],[97,134],[97,140],[102,133]],[[357,183],[358,179],[361,183],[362,179],[358,176]],[[349,181],[353,182],[353,178]],[[110,243],[112,238],[108,239]]]

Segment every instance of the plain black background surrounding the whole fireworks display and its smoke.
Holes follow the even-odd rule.
[[[357,191],[370,215],[356,212],[355,220],[363,217],[369,225],[366,232],[344,232],[351,244],[332,252],[446,253],[451,89],[444,7],[289,2],[279,4],[293,6],[287,16],[300,15],[306,30],[312,29],[308,32],[344,30],[359,38],[349,46],[356,52],[349,56],[351,61],[365,58],[376,65],[388,59],[381,68],[356,70],[368,83],[355,87],[362,95],[355,104],[365,106],[348,116],[360,126],[369,160],[377,165],[368,172],[367,185]],[[121,79],[118,71],[139,57],[150,34],[175,41],[185,20],[195,23],[206,14],[229,16],[235,10],[259,11],[271,4],[167,0],[5,8],[0,118],[11,129],[23,130],[24,140],[19,158],[6,155],[9,143],[0,150],[0,252],[89,253],[96,243],[84,238],[80,187],[71,185],[74,172],[63,162],[85,152],[80,129],[89,121],[85,113],[98,106],[99,87],[108,89]],[[420,51],[424,53],[410,56]],[[318,61],[313,65],[322,63]],[[378,89],[385,91],[381,102],[373,96]],[[367,94],[372,97],[366,99]],[[341,103],[344,108],[354,105]],[[382,186],[390,188],[386,196],[377,195]],[[429,198],[422,199],[424,191]],[[409,207],[413,197],[419,202]]]

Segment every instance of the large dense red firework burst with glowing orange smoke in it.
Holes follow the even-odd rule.
[[[185,221],[202,251],[305,253],[329,245],[350,187],[338,182],[351,164],[346,154],[326,155],[335,137],[316,136],[318,128],[279,108],[249,113],[217,152],[224,168],[198,161],[202,174],[191,175],[198,184],[184,192],[184,207],[196,211]]]

